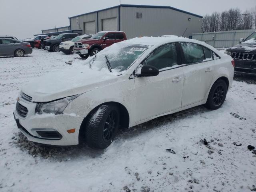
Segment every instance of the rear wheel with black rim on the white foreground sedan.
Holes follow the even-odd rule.
[[[216,110],[222,106],[227,95],[227,84],[224,80],[217,80],[208,95],[206,108]]]

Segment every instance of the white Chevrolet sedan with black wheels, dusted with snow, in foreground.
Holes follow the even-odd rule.
[[[24,86],[14,118],[30,141],[108,147],[120,128],[205,104],[222,106],[234,60],[204,42],[143,37]]]

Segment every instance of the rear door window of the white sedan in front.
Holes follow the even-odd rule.
[[[182,42],[180,45],[184,53],[183,64],[193,64],[204,60],[204,50],[202,46],[187,42]]]

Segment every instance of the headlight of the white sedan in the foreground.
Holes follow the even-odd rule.
[[[66,98],[56,100],[56,101],[52,101],[52,102],[38,103],[38,104],[36,104],[35,114],[43,114],[43,113],[53,113],[53,114],[56,114],[56,115],[57,114],[62,114],[62,112],[64,111],[66,106],[68,106],[68,104],[72,100],[77,98],[78,96],[80,96],[80,94],[70,96],[70,97],[66,97]]]

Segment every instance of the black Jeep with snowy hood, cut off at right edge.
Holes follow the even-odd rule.
[[[235,72],[256,75],[256,32],[245,40],[240,38],[240,44],[226,49],[225,53],[235,60]]]

